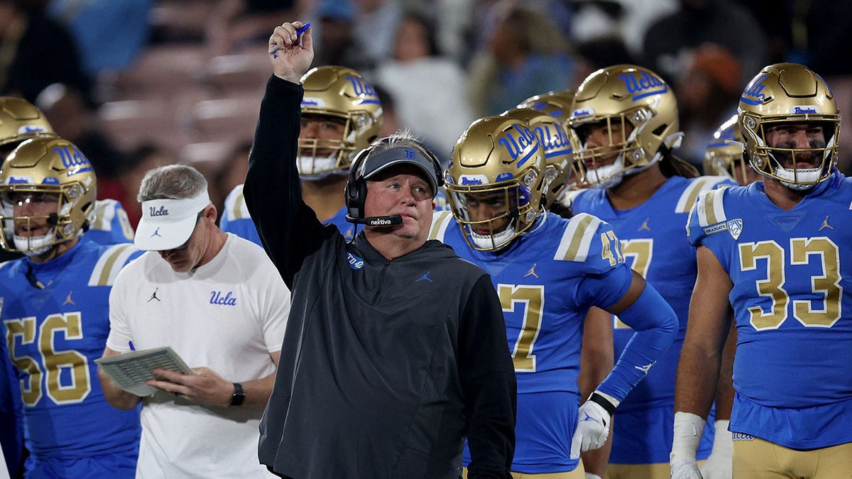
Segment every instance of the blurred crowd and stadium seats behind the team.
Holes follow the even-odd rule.
[[[315,66],[377,86],[381,135],[408,127],[444,161],[473,119],[619,63],[675,89],[680,153],[699,170],[761,66],[803,63],[852,109],[852,65],[838,61],[852,3],[829,0],[0,0],[0,95],[41,108],[134,227],[141,175],[162,164],[202,171],[222,211],[245,179],[268,34],[292,18],[312,23]]]

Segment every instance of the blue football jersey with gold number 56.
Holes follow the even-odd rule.
[[[107,403],[95,359],[109,333],[112,281],[140,254],[130,244],[83,239],[47,263],[25,257],[0,265],[3,338],[20,380],[24,439],[34,458],[126,453],[135,469],[139,408],[119,411]]]

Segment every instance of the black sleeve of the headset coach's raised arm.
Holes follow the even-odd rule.
[[[261,243],[291,289],[305,257],[323,240],[322,224],[302,201],[296,169],[303,94],[301,84],[269,78],[243,188]]]

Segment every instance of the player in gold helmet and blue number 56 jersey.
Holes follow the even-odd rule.
[[[95,359],[109,332],[118,270],[140,251],[99,245],[95,173],[70,141],[20,144],[0,170],[0,245],[21,252],[0,265],[4,349],[20,379],[25,477],[133,477],[138,408],[104,400]]]

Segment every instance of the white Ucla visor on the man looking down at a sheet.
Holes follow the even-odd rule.
[[[187,199],[149,199],[142,202],[142,217],[133,243],[140,250],[174,250],[193,234],[199,212],[210,205],[207,191]]]

